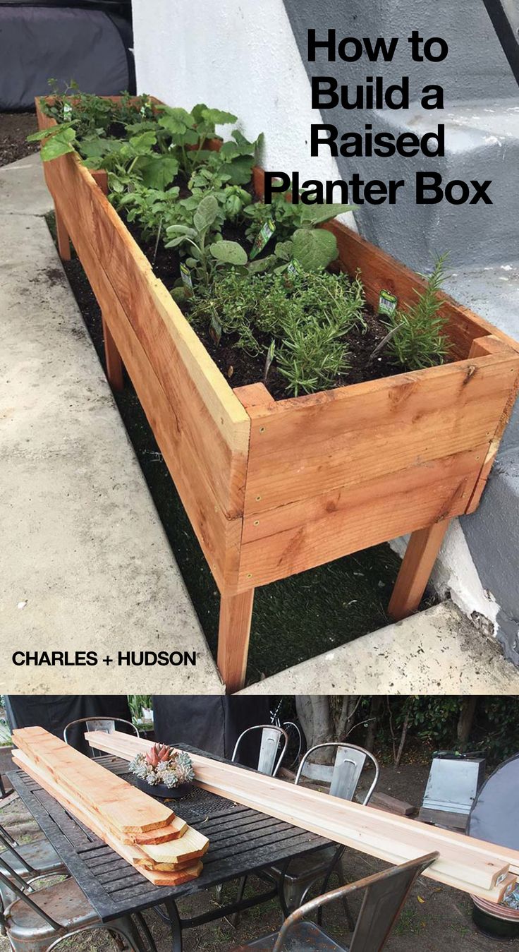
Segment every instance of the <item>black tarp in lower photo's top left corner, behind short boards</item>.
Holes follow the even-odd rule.
[[[5,697],[5,704],[11,730],[15,727],[45,727],[62,739],[67,724],[80,717],[119,717],[131,721],[124,694],[9,694]],[[87,744],[79,730],[70,737],[70,742],[87,753]]]

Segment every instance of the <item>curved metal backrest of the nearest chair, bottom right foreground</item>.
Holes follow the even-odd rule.
[[[283,922],[273,952],[288,949],[291,933],[299,920],[312,918],[323,905],[336,900],[349,899],[354,892],[365,889],[364,899],[356,921],[356,927],[348,952],[380,952],[388,941],[405,902],[418,876],[427,869],[439,853],[428,853],[410,863],[392,866],[374,876],[305,902]]]

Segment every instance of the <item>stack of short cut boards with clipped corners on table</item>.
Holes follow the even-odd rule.
[[[179,885],[200,876],[200,858],[209,841],[165,803],[116,777],[43,727],[15,730],[12,737],[18,747],[14,763],[146,880],[160,886]]]

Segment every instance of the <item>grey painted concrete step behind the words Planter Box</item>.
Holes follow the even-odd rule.
[[[370,114],[375,130],[394,135],[413,132],[422,137],[445,125],[445,156],[427,158],[421,152],[403,159],[394,156],[362,160],[362,177],[404,180],[393,206],[364,205],[356,212],[360,230],[375,244],[418,271],[431,267],[437,254],[448,251],[454,268],[509,263],[519,247],[519,105],[514,99],[449,103],[445,110],[427,111],[414,104],[405,110],[376,110]],[[344,159],[339,159],[339,167]],[[359,159],[348,160],[359,163]],[[343,169],[341,169],[343,170]],[[418,172],[452,181],[491,181],[491,205],[416,205]],[[454,198],[461,195],[454,190]],[[426,197],[433,193],[426,192]],[[517,251],[515,251],[517,254]]]

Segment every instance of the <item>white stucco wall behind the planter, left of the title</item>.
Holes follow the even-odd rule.
[[[310,126],[321,119],[282,0],[133,0],[132,8],[139,92],[234,112],[248,138],[265,133],[265,169],[340,178],[335,159],[310,155]]]

